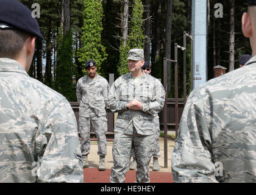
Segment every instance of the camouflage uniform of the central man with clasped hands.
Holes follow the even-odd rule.
[[[126,104],[132,100],[142,102],[142,110],[129,110]],[[124,182],[133,147],[138,162],[137,182],[149,182],[149,162],[155,151],[154,115],[165,104],[165,90],[162,83],[143,73],[141,80],[134,83],[132,74],[119,77],[112,85],[108,105],[112,112],[118,112],[113,144],[114,166],[110,182]]]

